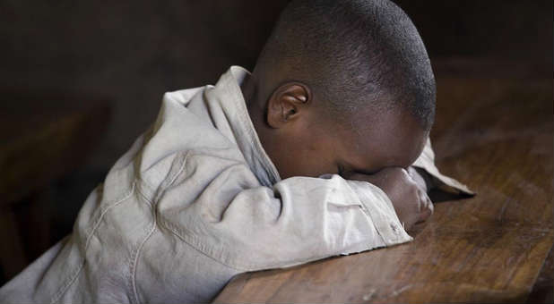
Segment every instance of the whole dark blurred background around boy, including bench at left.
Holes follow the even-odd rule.
[[[0,284],[71,232],[164,92],[251,70],[287,3],[1,0]],[[437,78],[552,77],[551,0],[395,3]]]

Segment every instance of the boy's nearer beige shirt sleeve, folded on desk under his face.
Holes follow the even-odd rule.
[[[162,199],[160,224],[241,271],[295,266],[412,240],[389,198],[368,182],[334,174],[293,177],[269,188],[253,179],[245,165],[231,165],[187,207],[168,208]]]

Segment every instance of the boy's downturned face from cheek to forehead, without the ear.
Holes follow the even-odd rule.
[[[279,143],[266,151],[281,178],[325,173],[377,173],[411,165],[425,146],[428,131],[406,112],[363,114],[361,122],[340,128],[316,113],[281,130]],[[275,135],[275,134],[274,134]]]

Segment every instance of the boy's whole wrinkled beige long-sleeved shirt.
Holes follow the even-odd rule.
[[[204,302],[239,273],[411,241],[385,193],[338,175],[281,180],[231,67],[166,93],[91,192],[74,232],[0,289],[3,302]],[[430,144],[415,165],[438,173]]]

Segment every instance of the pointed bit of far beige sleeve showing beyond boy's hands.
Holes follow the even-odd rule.
[[[461,182],[454,180],[451,177],[448,177],[438,171],[437,166],[435,165],[435,152],[431,147],[431,139],[427,139],[427,143],[423,151],[421,152],[420,157],[413,163],[414,167],[421,168],[429,173],[437,186],[443,190],[455,191],[458,193],[474,195],[475,192],[469,190],[466,185]]]

